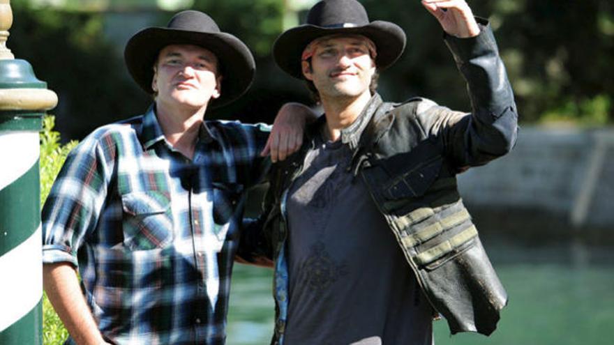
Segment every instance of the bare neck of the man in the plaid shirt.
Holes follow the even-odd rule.
[[[171,146],[190,160],[194,156],[198,131],[207,107],[188,109],[167,107],[156,102],[156,115],[164,137]]]

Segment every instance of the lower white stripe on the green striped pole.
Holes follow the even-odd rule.
[[[43,297],[41,232],[39,225],[30,238],[0,256],[0,332],[31,312]]]

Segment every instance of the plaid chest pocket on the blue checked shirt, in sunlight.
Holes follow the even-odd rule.
[[[174,238],[170,195],[131,192],[121,196],[123,245],[130,250],[168,247]]]

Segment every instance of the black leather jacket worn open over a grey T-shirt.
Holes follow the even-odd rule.
[[[361,114],[370,121],[353,151],[352,174],[368,187],[408,268],[451,332],[489,335],[507,295],[463,206],[456,174],[508,153],[516,141],[518,116],[488,25],[475,38],[447,37],[446,43],[467,81],[472,113],[424,98],[394,104],[373,95]],[[245,231],[242,238],[249,243],[240,252],[245,259],[274,259],[275,344],[283,344],[287,316],[285,194],[322,121],[324,116],[308,131],[300,153],[272,169],[260,220],[264,233]]]

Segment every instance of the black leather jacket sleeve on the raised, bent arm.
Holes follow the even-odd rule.
[[[509,151],[516,142],[518,114],[503,61],[490,24],[477,18],[481,33],[473,38],[444,35],[444,40],[467,82],[470,114],[433,105],[418,107],[417,117],[427,135],[444,143],[456,167],[486,164]]]

